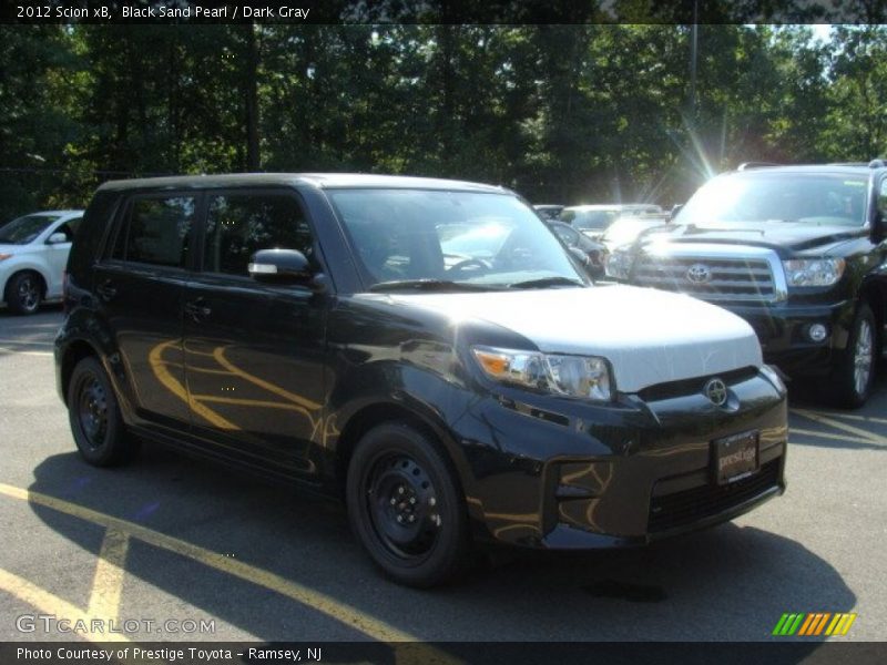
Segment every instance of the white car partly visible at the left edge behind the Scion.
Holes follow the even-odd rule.
[[[62,295],[62,278],[83,211],[47,211],[0,226],[0,294],[16,314]]]

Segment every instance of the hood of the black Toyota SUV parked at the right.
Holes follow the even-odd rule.
[[[865,235],[861,227],[809,226],[789,222],[731,222],[686,224],[655,231],[644,243],[725,243],[768,247],[776,252],[802,252]],[[781,252],[782,250],[782,252]]]

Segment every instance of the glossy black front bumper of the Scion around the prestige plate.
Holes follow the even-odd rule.
[[[754,370],[724,378],[738,400],[733,411],[686,381],[606,406],[539,396],[527,403],[506,390],[477,403],[457,431],[476,535],[551,550],[641,545],[783,493],[785,392]],[[718,485],[711,442],[750,430],[759,432],[757,471]]]

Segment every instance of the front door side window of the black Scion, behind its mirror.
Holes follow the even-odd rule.
[[[313,247],[308,223],[292,195],[210,197],[203,254],[208,273],[246,277],[249,257],[259,249],[298,249],[310,260]]]

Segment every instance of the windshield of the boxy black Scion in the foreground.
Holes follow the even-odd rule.
[[[507,194],[330,190],[368,287],[419,280],[481,288],[580,283],[532,208]]]

